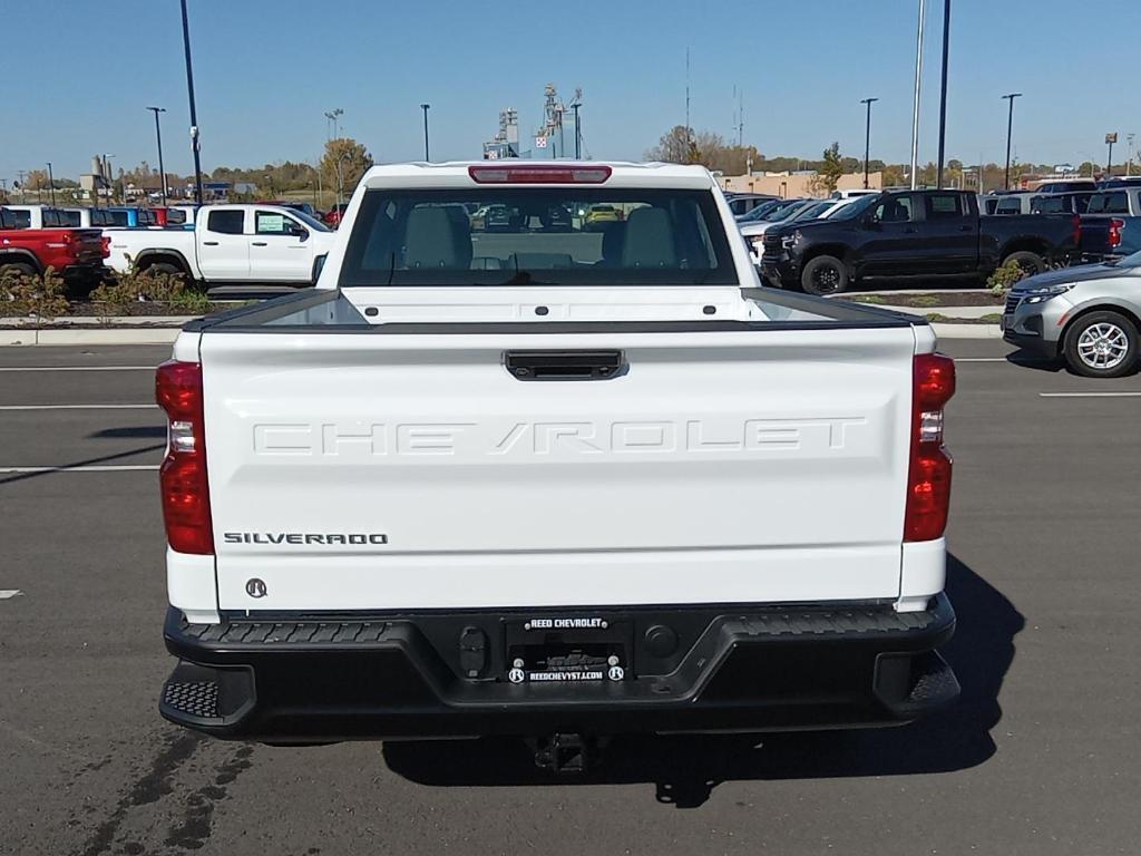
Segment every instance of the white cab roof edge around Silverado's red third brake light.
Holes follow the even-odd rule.
[[[483,169],[597,169],[608,167],[610,177],[599,184],[573,185],[565,181],[552,181],[561,187],[678,187],[688,189],[712,189],[715,186],[713,176],[699,164],[683,163],[633,163],[625,161],[448,161],[446,163],[388,163],[373,167],[365,172],[362,184],[365,187],[527,187],[548,186],[541,183],[528,184],[477,184],[469,173],[469,168]]]

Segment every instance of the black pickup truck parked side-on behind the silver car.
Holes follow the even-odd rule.
[[[979,215],[963,191],[864,196],[826,220],[764,233],[761,276],[771,285],[835,294],[859,280],[986,277],[1014,261],[1028,274],[1077,256],[1071,215]]]

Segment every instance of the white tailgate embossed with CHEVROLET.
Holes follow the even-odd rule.
[[[205,333],[219,606],[893,598],[914,349],[907,326]],[[505,368],[535,350],[625,368]]]

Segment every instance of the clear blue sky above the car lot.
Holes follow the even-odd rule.
[[[876,96],[873,158],[909,158],[917,0],[504,6],[189,0],[203,167],[313,161],[333,107],[377,160],[416,159],[421,102],[432,105],[434,160],[479,158],[502,107],[516,107],[524,139],[532,136],[547,82],[565,97],[584,90],[592,156],[639,159],[683,121],[687,47],[695,128],[730,136],[738,86],[745,140],[763,153],[816,158],[836,139],[861,156],[858,102]],[[191,171],[177,0],[2,7],[0,177],[10,183],[48,160],[57,176],[74,177],[96,152],[155,165],[151,104],[169,111],[168,169]],[[923,161],[937,152],[941,16],[942,3],[928,0]],[[1008,91],[1025,94],[1019,160],[1103,161],[1110,130],[1122,134],[1115,160],[1125,134],[1138,132],[1141,146],[1141,78],[1127,73],[1135,45],[1117,42],[1120,53],[1101,38],[1141,31],[1141,2],[954,0],[953,16],[948,156],[1002,161]]]

